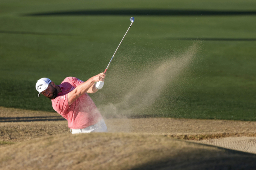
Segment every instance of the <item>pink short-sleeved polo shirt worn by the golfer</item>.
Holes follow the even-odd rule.
[[[68,106],[68,93],[82,83],[83,81],[75,77],[65,78],[59,85],[62,92],[58,93],[57,98],[52,100],[53,109],[68,120],[70,129],[84,129],[102,119],[96,105],[87,93]]]

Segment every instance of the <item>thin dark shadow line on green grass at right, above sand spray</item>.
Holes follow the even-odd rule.
[[[170,40],[188,41],[256,41],[256,38],[168,38]]]

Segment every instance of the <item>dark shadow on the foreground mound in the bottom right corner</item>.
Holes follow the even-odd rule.
[[[220,151],[207,151],[209,157],[205,154],[196,154],[194,152],[185,152],[186,158],[183,158],[182,152],[175,158],[164,158],[161,161],[151,161],[131,170],[241,170],[256,169],[256,154],[242,152],[238,150],[226,149],[222,147],[205,145]],[[203,151],[203,150],[202,150]],[[223,155],[225,153],[225,155]],[[188,156],[189,155],[189,156]]]

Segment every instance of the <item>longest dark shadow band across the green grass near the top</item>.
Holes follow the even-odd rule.
[[[22,16],[95,16],[95,15],[133,15],[133,16],[237,16],[256,15],[256,11],[214,11],[214,10],[79,10],[23,14]]]

